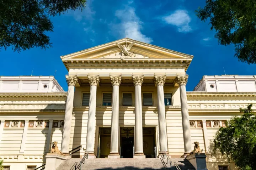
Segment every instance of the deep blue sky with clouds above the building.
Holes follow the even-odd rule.
[[[54,75],[67,90],[68,73],[60,56],[125,37],[193,55],[187,70],[187,91],[203,75],[256,75],[256,65],[234,57],[234,46],[218,45],[208,23],[195,15],[204,0],[88,0],[81,11],[52,17],[54,32],[47,33],[53,47],[0,52],[0,75]]]

